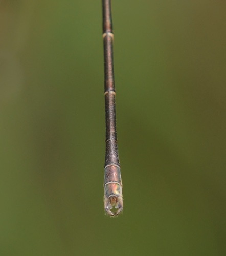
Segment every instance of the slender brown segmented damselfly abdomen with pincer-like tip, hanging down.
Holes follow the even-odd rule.
[[[116,131],[116,91],[114,81],[111,0],[102,0],[104,42],[104,97],[106,152],[104,165],[104,209],[110,216],[123,210],[122,178]]]

